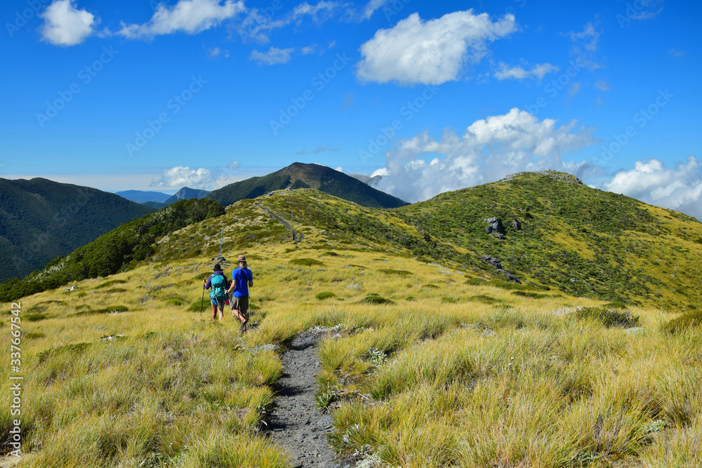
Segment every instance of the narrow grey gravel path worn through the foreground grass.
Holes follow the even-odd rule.
[[[268,432],[288,450],[295,467],[350,468],[352,463],[340,460],[327,443],[326,434],[332,430],[331,416],[314,406],[317,392],[314,376],[321,370],[317,340],[321,336],[310,332],[298,335],[283,354],[285,372],[277,385],[278,399]]]

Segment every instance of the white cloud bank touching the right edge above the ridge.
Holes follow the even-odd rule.
[[[658,159],[637,161],[633,169],[616,173],[604,188],[702,219],[702,161],[695,156],[675,168]]]

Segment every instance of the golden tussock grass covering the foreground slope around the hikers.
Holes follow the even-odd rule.
[[[314,326],[336,327],[319,345],[317,380],[338,400],[337,450],[388,467],[700,465],[702,338],[661,331],[674,314],[635,308],[640,330],[604,328],[574,314],[594,300],[468,286],[455,265],[289,247],[246,252],[258,260],[245,335],[228,311],[211,323],[207,302],[202,318],[187,311],[206,263],[110,278],[126,291],[94,279],[25,297],[23,313],[41,305],[46,318],[22,321],[20,466],[289,467],[261,420],[278,352]],[[291,265],[301,258],[324,266]],[[393,304],[359,303],[371,293]],[[128,310],[89,313],[117,306]],[[3,431],[10,420],[4,406]]]

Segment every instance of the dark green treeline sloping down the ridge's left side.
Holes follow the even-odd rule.
[[[155,213],[126,222],[107,234],[58,257],[43,270],[0,284],[0,301],[10,302],[72,281],[108,276],[133,267],[153,255],[161,237],[195,222],[223,215],[225,209],[208,199],[180,200]]]

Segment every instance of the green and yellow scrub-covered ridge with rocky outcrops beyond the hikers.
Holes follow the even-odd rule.
[[[487,255],[525,286],[668,309],[692,309],[702,300],[701,223],[562,173],[526,173],[392,210],[310,189],[276,192],[235,203],[211,226],[177,233],[178,248],[162,243],[154,258],[216,253],[219,229],[225,249],[292,241],[292,231],[263,208],[282,220],[293,215],[300,248],[392,252],[449,262],[475,281],[506,279],[482,260]],[[503,239],[486,233],[489,218],[501,220]],[[205,239],[205,246],[189,246],[193,239]]]

